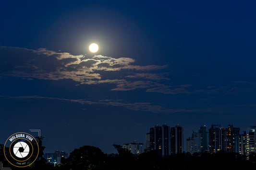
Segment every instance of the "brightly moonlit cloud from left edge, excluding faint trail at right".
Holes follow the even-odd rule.
[[[59,53],[39,48],[37,50],[0,46],[1,64],[0,75],[23,77],[26,79],[60,80],[72,79],[79,84],[101,84],[111,83],[117,87],[113,91],[134,90],[154,87],[149,80],[170,80],[163,75],[146,73],[145,71],[163,69],[167,65],[132,65],[133,58],[113,58],[102,55],[87,57],[86,55],[72,55],[70,53]],[[109,79],[102,75],[102,71],[108,72],[133,70],[129,75],[128,71],[124,78],[116,77]],[[143,73],[135,73],[134,72]],[[101,72],[101,73],[100,73]],[[105,75],[105,74],[104,74]],[[127,80],[128,78],[143,78],[144,80]]]

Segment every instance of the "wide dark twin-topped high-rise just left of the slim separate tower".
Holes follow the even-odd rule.
[[[162,125],[150,128],[149,150],[157,150],[161,156],[170,155],[170,127]]]

